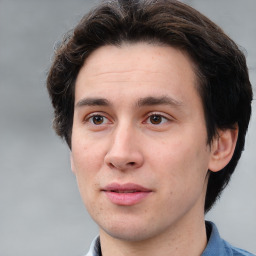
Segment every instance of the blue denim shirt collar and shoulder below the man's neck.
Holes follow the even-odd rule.
[[[206,221],[209,240],[201,256],[255,256],[245,250],[236,248],[223,240],[214,223]],[[86,256],[101,256],[100,239],[96,237]]]

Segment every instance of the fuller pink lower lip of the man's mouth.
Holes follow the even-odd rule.
[[[151,192],[134,192],[134,193],[116,193],[112,191],[104,191],[108,199],[117,205],[134,205],[141,202],[146,198]]]

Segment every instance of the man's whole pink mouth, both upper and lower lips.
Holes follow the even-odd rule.
[[[102,189],[107,198],[116,205],[138,204],[151,194],[152,190],[134,183],[112,183]]]

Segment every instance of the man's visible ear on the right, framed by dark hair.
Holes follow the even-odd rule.
[[[217,172],[231,160],[238,137],[238,126],[234,129],[218,130],[218,135],[211,144],[211,159],[208,169]]]

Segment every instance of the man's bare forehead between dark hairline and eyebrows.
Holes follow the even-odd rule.
[[[170,94],[186,101],[198,97],[196,80],[193,62],[178,49],[147,43],[107,45],[95,50],[79,71],[75,103],[85,96],[111,97],[135,90],[138,96]]]

